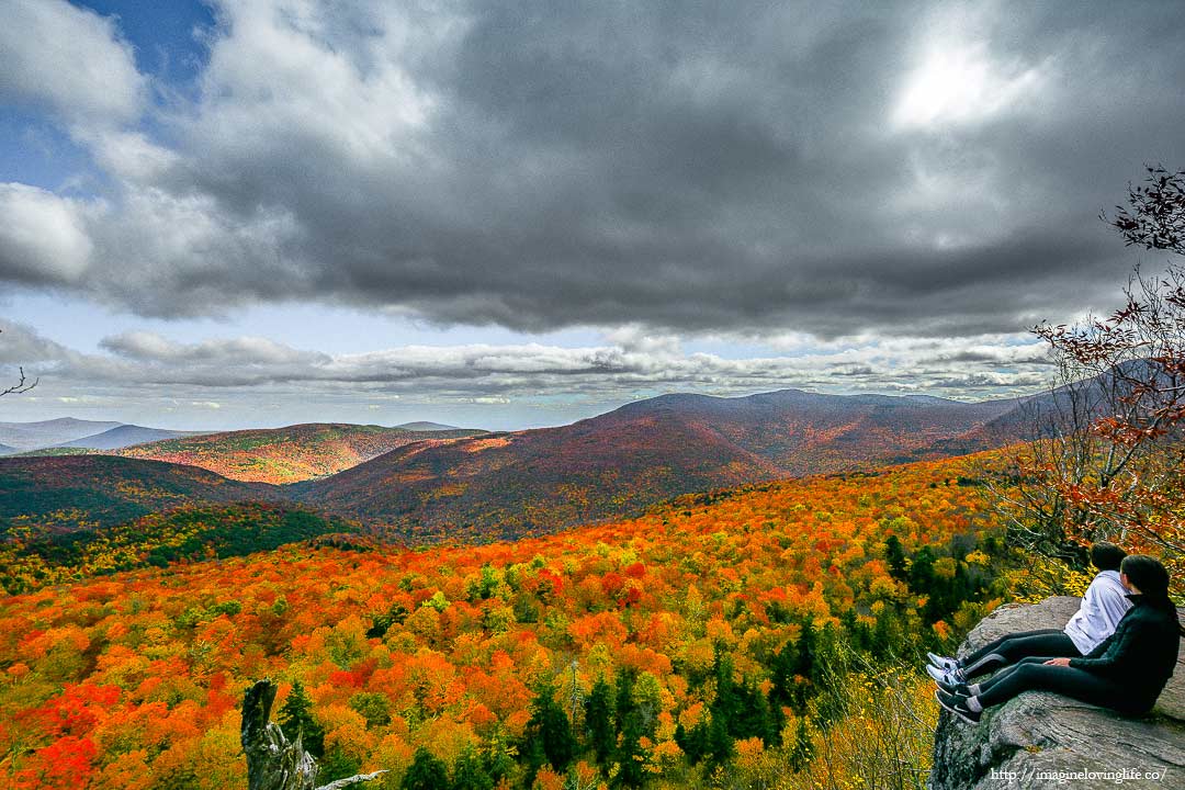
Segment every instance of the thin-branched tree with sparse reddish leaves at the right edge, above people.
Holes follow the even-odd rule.
[[[1149,167],[1128,206],[1102,217],[1128,245],[1185,255],[1185,171]],[[1014,545],[1074,559],[1115,540],[1178,565],[1185,557],[1185,268],[1139,266],[1123,306],[1032,332],[1057,375],[1030,402],[1031,435],[998,486]],[[1180,578],[1180,573],[1176,574]]]

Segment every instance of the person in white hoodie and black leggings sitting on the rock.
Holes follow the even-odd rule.
[[[953,688],[968,679],[995,672],[1029,656],[1078,659],[1095,649],[1115,632],[1119,621],[1132,608],[1127,590],[1119,578],[1119,567],[1127,553],[1115,544],[1097,542],[1090,548],[1090,561],[1098,569],[1078,611],[1062,630],[1040,629],[1008,634],[988,642],[962,659],[927,653],[925,668],[939,686]]]

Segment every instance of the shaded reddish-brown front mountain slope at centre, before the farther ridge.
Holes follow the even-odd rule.
[[[513,538],[636,514],[686,492],[779,476],[775,464],[712,431],[653,415],[419,444],[297,484],[293,493],[411,537]]]

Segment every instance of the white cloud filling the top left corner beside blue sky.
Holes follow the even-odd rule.
[[[66,0],[7,0],[0,99],[47,108],[69,123],[116,124],[141,111],[146,79],[110,18]]]

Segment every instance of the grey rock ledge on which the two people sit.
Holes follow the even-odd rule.
[[[1078,598],[1006,605],[975,627],[961,654],[1014,631],[1061,628]],[[1057,694],[1029,692],[978,725],[942,712],[930,790],[1185,786],[1185,646],[1153,712],[1129,719]]]

